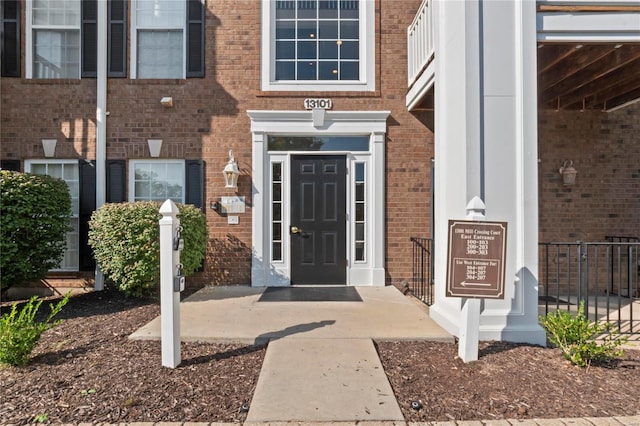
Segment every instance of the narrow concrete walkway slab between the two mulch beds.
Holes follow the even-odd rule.
[[[404,421],[370,339],[269,343],[247,422]]]

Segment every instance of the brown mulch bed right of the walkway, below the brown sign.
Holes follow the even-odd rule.
[[[640,414],[638,350],[589,368],[558,349],[507,342],[481,342],[466,364],[449,343],[381,342],[378,352],[407,421]]]

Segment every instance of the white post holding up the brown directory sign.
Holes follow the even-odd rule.
[[[473,197],[467,204],[467,219],[485,219],[485,204],[479,197]],[[462,321],[458,339],[458,356],[464,362],[478,360],[480,340],[480,299],[462,299]]]

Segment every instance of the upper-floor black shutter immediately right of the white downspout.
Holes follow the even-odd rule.
[[[127,2],[109,1],[108,68],[109,77],[127,76]]]

